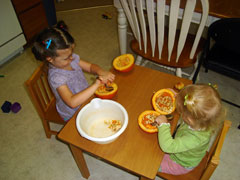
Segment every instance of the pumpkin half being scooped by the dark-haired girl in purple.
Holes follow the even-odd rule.
[[[95,91],[95,95],[101,99],[112,99],[117,94],[117,84],[116,83],[108,83],[109,87],[112,87],[112,90],[106,87],[105,84],[102,84]]]

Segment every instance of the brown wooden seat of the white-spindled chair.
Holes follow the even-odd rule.
[[[165,32],[167,32],[168,30],[165,30]],[[165,33],[165,37],[164,37],[164,45],[163,45],[163,50],[162,50],[162,58],[159,59],[159,51],[158,51],[158,45],[156,43],[156,47],[155,47],[155,54],[154,57],[152,56],[152,48],[150,45],[150,35],[148,33],[147,36],[147,53],[144,53],[144,49],[142,48],[142,50],[140,50],[139,48],[139,43],[136,39],[131,41],[131,48],[132,50],[142,56],[145,59],[149,59],[155,63],[158,64],[162,64],[165,66],[170,66],[170,67],[174,67],[174,68],[187,68],[187,67],[191,67],[195,64],[196,60],[197,60],[197,55],[198,53],[201,51],[201,49],[203,48],[205,39],[201,38],[200,42],[198,44],[198,48],[196,50],[195,56],[193,59],[190,59],[190,52],[191,52],[191,48],[194,42],[194,38],[195,36],[188,34],[187,39],[186,39],[186,43],[185,46],[183,48],[183,51],[179,57],[179,61],[176,62],[176,57],[177,57],[177,44],[178,41],[176,40],[176,43],[174,43],[174,47],[173,47],[173,53],[170,59],[170,62],[168,62],[168,47],[167,47],[167,42],[168,42],[168,36]],[[179,31],[177,31],[176,33],[176,39],[179,38]],[[142,42],[142,47],[144,47],[144,43]]]

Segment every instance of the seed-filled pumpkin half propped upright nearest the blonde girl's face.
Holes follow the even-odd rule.
[[[175,111],[175,96],[169,89],[160,89],[152,97],[152,105],[155,111],[162,115]]]

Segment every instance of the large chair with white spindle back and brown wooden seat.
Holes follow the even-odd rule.
[[[131,48],[138,55],[136,64],[141,64],[144,58],[174,71],[179,77],[187,75],[192,79],[198,64],[197,55],[204,42],[201,36],[208,17],[208,0],[120,1],[135,37]],[[195,18],[196,1],[201,3],[202,13],[198,13],[201,18],[197,32],[191,35],[189,29]],[[169,12],[169,22],[165,12]],[[180,29],[177,27],[179,18],[182,19]],[[188,67],[193,67],[191,74],[182,71]]]

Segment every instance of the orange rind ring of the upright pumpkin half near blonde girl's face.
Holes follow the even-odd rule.
[[[172,107],[171,107],[171,109],[169,111],[163,111],[163,110],[159,109],[159,107],[157,106],[156,100],[163,93],[167,93],[171,97],[171,99],[172,99]],[[175,111],[175,101],[176,100],[175,100],[174,93],[171,90],[169,90],[169,89],[160,89],[152,97],[152,105],[153,105],[154,110],[158,111],[162,115],[171,114],[172,112]]]

